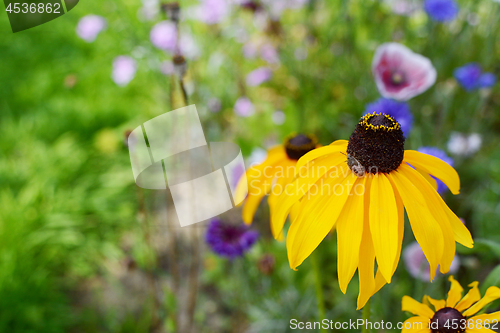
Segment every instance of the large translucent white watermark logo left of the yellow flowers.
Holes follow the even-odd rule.
[[[207,144],[195,105],[164,113],[135,128],[128,137],[137,186],[172,194],[182,227],[222,214],[248,193],[240,147]],[[234,181],[241,174],[243,188]]]

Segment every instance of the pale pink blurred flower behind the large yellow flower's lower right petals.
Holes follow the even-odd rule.
[[[422,248],[417,242],[413,242],[406,246],[403,250],[403,260],[405,262],[406,270],[414,278],[429,282],[431,279],[431,268],[429,262],[425,258]],[[454,274],[460,268],[460,259],[458,256],[453,258],[450,270],[448,273]]]

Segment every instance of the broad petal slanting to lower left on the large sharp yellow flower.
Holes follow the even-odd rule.
[[[345,168],[348,167],[345,166]],[[322,205],[323,207],[307,215],[302,214],[302,210],[307,210],[307,206],[304,209],[301,206],[299,216],[290,226],[286,245],[288,261],[292,269],[296,269],[316,249],[335,225],[349,197],[348,194],[351,192],[351,187],[354,184],[353,177],[350,173],[347,177],[329,179],[325,185],[326,190],[332,189],[330,194],[321,193],[322,189],[319,189],[320,192],[311,196],[312,199],[309,199],[311,193],[302,199],[301,205],[311,204],[313,206],[322,198],[327,199],[327,201]]]

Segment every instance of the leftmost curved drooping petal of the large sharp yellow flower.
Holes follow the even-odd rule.
[[[271,228],[274,237],[277,237],[283,229],[292,206],[309,191],[318,179],[331,169],[338,167],[340,163],[347,166],[345,156],[340,153],[332,154],[315,163],[310,172],[286,186],[283,193],[276,199],[276,209],[271,214]]]

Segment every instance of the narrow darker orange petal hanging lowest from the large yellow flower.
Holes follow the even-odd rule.
[[[372,177],[366,179],[366,193],[370,193]],[[370,234],[369,222],[369,206],[370,198],[365,196],[365,209],[364,209],[364,225],[363,237],[361,239],[361,246],[359,249],[359,295],[357,308],[358,310],[366,305],[366,302],[372,297],[375,292],[375,278],[373,272],[375,268],[375,250],[373,249],[372,237]]]

